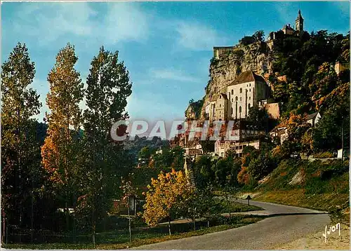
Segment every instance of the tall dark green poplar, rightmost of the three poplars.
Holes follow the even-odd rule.
[[[128,172],[131,161],[121,144],[110,138],[112,124],[128,118],[125,111],[127,97],[131,95],[131,82],[119,52],[103,47],[91,61],[86,81],[86,107],[84,111],[84,165],[82,186],[86,206],[91,210],[93,238],[98,219],[105,217],[116,198],[119,180]],[[121,194],[120,194],[121,195]],[[93,240],[94,241],[94,240]]]

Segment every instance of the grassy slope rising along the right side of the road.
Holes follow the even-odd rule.
[[[350,222],[348,171],[348,161],[344,165],[340,161],[283,161],[256,188],[260,194],[255,200],[324,210],[336,220]],[[298,172],[300,182],[289,184]]]

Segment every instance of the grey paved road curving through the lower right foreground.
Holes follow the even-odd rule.
[[[326,224],[330,221],[328,215],[316,210],[258,201],[250,201],[250,205],[257,205],[265,210],[246,212],[245,214],[276,216],[237,229],[229,229],[178,240],[168,240],[162,243],[134,247],[133,249],[269,250],[302,238],[309,233],[323,231]]]

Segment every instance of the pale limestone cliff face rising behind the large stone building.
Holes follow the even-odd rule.
[[[204,118],[205,107],[211,97],[219,92],[227,93],[227,86],[241,72],[252,70],[264,76],[272,72],[272,62],[273,53],[265,42],[251,43],[248,46],[239,44],[231,51],[221,54],[218,58],[213,58],[201,118]]]

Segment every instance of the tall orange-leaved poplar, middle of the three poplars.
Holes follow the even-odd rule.
[[[78,57],[74,46],[67,44],[56,56],[56,62],[48,74],[50,91],[46,104],[48,131],[41,147],[42,165],[48,172],[55,193],[63,198],[66,227],[69,228],[69,206],[75,210],[77,201],[77,152],[81,109],[79,102],[84,90],[80,74],[74,69]]]

